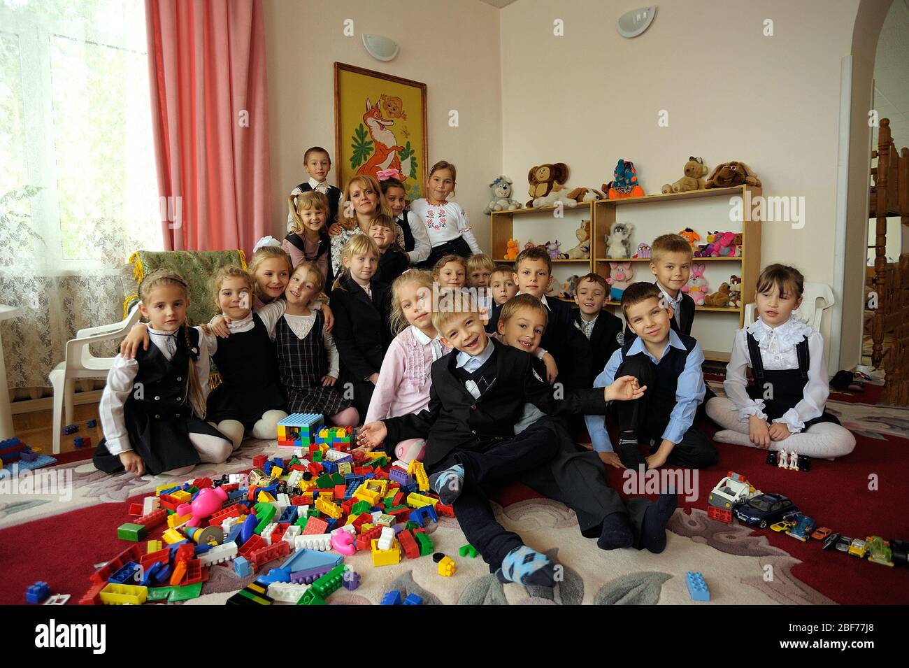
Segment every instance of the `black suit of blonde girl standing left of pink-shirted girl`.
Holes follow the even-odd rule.
[[[332,292],[335,343],[341,354],[341,381],[354,386],[354,404],[361,415],[369,409],[375,385],[368,380],[379,373],[392,341],[389,329],[391,287],[373,278],[369,293],[349,274]]]

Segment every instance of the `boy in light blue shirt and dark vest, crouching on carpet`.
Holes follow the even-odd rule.
[[[693,426],[694,412],[704,400],[701,345],[671,327],[673,308],[665,305],[663,293],[652,283],[629,285],[622,295],[622,311],[636,335],[614,352],[594,380],[594,387],[603,387],[617,374],[628,374],[647,388],[641,399],[615,405],[622,464],[634,469],[666,462],[697,469],[716,464],[714,444]],[[603,417],[587,415],[585,420],[594,450],[612,451]],[[639,440],[651,443],[646,458]]]

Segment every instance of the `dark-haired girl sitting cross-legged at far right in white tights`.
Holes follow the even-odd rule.
[[[802,304],[804,276],[794,267],[771,264],[757,279],[758,319],[735,334],[723,384],[725,397],[707,402],[706,412],[724,427],[721,443],[833,459],[852,452],[855,437],[824,412],[830,394],[824,339],[794,317]],[[746,386],[745,368],[754,384]]]

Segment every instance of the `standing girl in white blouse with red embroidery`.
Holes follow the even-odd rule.
[[[427,261],[430,266],[447,254],[468,257],[472,253],[482,253],[470,231],[464,209],[460,204],[448,201],[448,195],[454,193],[456,174],[457,170],[451,163],[445,160],[437,162],[426,179],[425,199],[418,199],[410,205],[411,212],[425,225],[433,245]]]

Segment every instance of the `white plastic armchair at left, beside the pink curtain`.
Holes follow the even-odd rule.
[[[138,321],[139,306],[136,304],[125,320],[80,329],[75,333],[75,339],[66,342],[64,361],[57,364],[54,370],[48,374],[51,384],[54,386],[54,422],[51,424],[51,431],[54,434],[54,454],[60,454],[60,435],[64,424],[73,424],[75,380],[106,378],[114,364],[114,357],[95,357],[88,346],[108,339],[122,338]],[[62,422],[64,408],[65,423]]]

